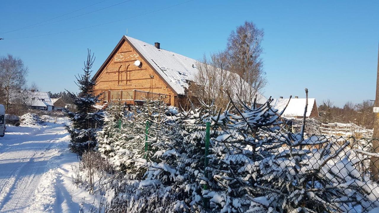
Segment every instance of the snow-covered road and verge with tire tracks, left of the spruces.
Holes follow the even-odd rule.
[[[8,126],[0,138],[0,212],[79,212],[98,203],[72,183],[78,158],[62,124]]]

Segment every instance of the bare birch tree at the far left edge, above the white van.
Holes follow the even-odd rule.
[[[6,110],[10,105],[12,90],[21,89],[25,85],[27,74],[28,67],[20,58],[14,58],[10,54],[0,58],[0,87],[4,94],[2,101],[5,103]]]

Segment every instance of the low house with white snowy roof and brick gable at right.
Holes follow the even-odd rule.
[[[279,112],[281,112],[287,105],[288,100],[290,99],[283,99],[283,97],[280,97],[279,99],[273,99],[273,102],[271,102],[271,106],[273,106],[274,108],[278,109]],[[288,106],[285,109],[282,116],[295,118],[304,117],[305,101],[305,98],[299,99],[298,96],[295,96],[295,98],[291,98],[290,103],[288,103]],[[307,114],[305,116],[318,117],[316,99],[308,99]]]

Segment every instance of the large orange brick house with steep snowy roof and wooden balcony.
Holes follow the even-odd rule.
[[[191,82],[199,70],[197,60],[123,36],[94,75],[96,95],[103,103],[121,99],[134,104],[146,97],[163,97],[168,105],[177,106],[186,98]],[[257,103],[266,98],[258,95]]]

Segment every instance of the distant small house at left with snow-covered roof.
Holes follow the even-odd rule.
[[[22,100],[22,102],[31,109],[45,111],[53,110],[53,102],[47,92],[14,89],[11,92],[10,103],[12,104],[12,102],[17,101],[17,99]]]

